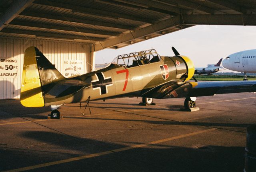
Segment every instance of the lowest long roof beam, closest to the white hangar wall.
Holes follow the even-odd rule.
[[[45,38],[60,38],[60,39],[81,39],[87,41],[105,41],[104,38],[98,37],[88,37],[80,35],[63,35],[58,33],[47,33],[47,32],[38,32],[38,31],[29,31],[29,30],[20,30],[20,29],[8,29],[4,28],[1,32],[4,33],[16,33],[21,35],[35,35],[36,37],[45,37]]]

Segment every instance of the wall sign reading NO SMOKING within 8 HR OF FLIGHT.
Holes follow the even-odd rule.
[[[63,75],[66,78],[84,74],[84,61],[64,60],[63,63]]]

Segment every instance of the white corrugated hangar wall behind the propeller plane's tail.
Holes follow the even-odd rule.
[[[88,59],[90,55],[95,55],[95,53],[90,53],[90,45],[65,41],[0,37],[0,99],[20,98],[24,51],[30,46],[37,47],[67,78],[71,74],[87,73],[92,70],[90,65],[94,66],[94,64],[90,64],[90,62],[94,63],[94,57],[92,57],[93,60]],[[88,63],[86,63],[86,59],[88,59]]]

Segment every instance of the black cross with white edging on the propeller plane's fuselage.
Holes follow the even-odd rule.
[[[105,78],[103,72],[95,74],[97,80],[92,81],[92,90],[99,89],[100,95],[108,93],[108,86],[112,86],[111,76]]]

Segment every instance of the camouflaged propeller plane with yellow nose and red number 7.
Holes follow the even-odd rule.
[[[190,82],[194,63],[172,47],[175,56],[159,56],[154,49],[119,55],[106,68],[65,78],[36,48],[24,53],[20,102],[26,107],[51,106],[52,118],[64,104],[137,96],[144,104],[153,98],[185,98],[195,108],[196,96],[256,92],[256,81]]]

